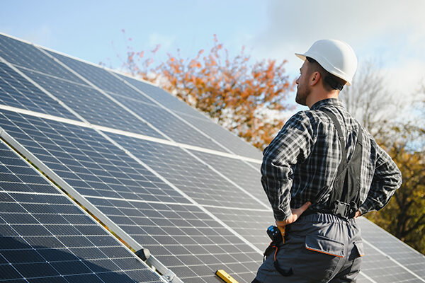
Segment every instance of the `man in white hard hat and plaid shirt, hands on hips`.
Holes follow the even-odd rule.
[[[261,183],[283,241],[271,246],[253,283],[356,282],[363,243],[355,218],[379,210],[401,173],[338,100],[351,85],[356,54],[319,40],[297,79],[297,112],[263,151]]]

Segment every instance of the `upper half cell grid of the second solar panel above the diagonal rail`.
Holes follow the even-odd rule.
[[[183,149],[119,134],[108,136],[199,204],[241,208],[258,204]]]

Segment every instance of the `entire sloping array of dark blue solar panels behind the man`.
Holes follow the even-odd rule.
[[[171,282],[218,282],[217,269],[240,283],[254,279],[273,223],[259,182],[261,152],[161,88],[0,35],[0,127],[2,139],[128,245],[148,248],[151,264],[176,275]],[[64,275],[57,282],[159,282],[21,158],[8,163],[11,150],[0,147],[1,209],[20,206],[1,210],[8,229],[0,235],[16,241],[10,246],[18,253],[0,246],[0,282],[54,282],[42,268],[20,273],[28,264]],[[26,177],[8,180],[16,168]],[[26,214],[34,204],[45,210]],[[34,221],[47,222],[31,232]],[[424,255],[366,219],[359,223],[367,254],[359,282],[425,282]],[[57,237],[89,239],[84,247],[55,246]],[[89,250],[98,258],[87,258]],[[63,263],[76,258],[74,269]]]

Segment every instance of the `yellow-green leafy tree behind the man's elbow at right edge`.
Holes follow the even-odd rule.
[[[417,132],[419,130],[419,133]],[[407,132],[410,137],[418,134],[424,139],[423,129],[405,126],[395,132]],[[405,133],[404,133],[405,135]],[[425,253],[425,151],[414,151],[410,139],[402,144],[387,146],[387,151],[402,171],[402,186],[379,213],[367,215],[382,228],[421,253]]]

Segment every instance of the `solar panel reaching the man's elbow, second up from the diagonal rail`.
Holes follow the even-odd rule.
[[[234,187],[225,178],[211,171],[205,163],[198,161],[193,156],[189,156],[182,149],[150,141],[140,141],[118,134],[109,135],[118,144],[121,144],[126,149],[131,149],[137,158],[147,163],[154,171],[157,171],[166,180],[179,187],[198,204],[203,205],[209,212],[225,222],[225,224],[237,230],[244,238],[250,239],[250,242],[257,248],[260,250],[266,248],[269,238],[264,231],[274,222],[271,209],[266,204],[259,204],[254,197],[246,195],[241,188]],[[202,156],[200,153],[196,153],[196,155]],[[204,155],[208,155],[205,159],[208,160],[208,163],[214,158],[224,158],[227,159],[225,162],[234,161],[234,163],[237,163],[237,160],[232,158],[212,156],[212,154]],[[231,178],[236,177],[233,180],[239,180],[238,178],[242,177],[244,173],[246,175],[253,173],[251,171],[244,172],[244,169],[254,171],[253,168],[246,166],[242,161],[237,164],[241,166],[242,171],[239,171],[234,176],[231,176],[232,169],[230,169],[229,174],[225,173]],[[229,165],[234,164],[229,163]],[[246,167],[243,167],[243,165]],[[220,171],[220,167],[215,168],[219,168]],[[257,173],[254,173],[255,175]],[[254,181],[252,185],[249,185],[253,192],[254,187],[262,192],[259,180],[247,177],[246,183],[250,181]],[[245,182],[240,183],[240,185],[242,185],[242,189],[246,189]],[[264,200],[264,198],[265,196],[262,192],[261,199]]]

